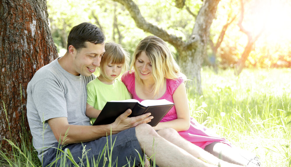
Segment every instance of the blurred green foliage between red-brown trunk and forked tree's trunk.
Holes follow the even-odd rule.
[[[148,22],[163,28],[170,34],[181,37],[183,40],[189,38],[194,27],[194,17],[187,10],[176,8],[173,0],[150,1],[150,3],[142,0],[134,2],[139,6],[141,14]],[[187,1],[187,6],[195,14],[198,13],[201,4],[200,0]],[[106,41],[115,39],[118,43],[120,38],[121,44],[131,54],[141,39],[151,35],[137,28],[125,7],[114,1],[47,0],[47,9],[52,36],[58,52],[62,48],[66,48],[64,40],[66,40],[70,29],[84,21],[101,27]],[[120,36],[115,33],[113,37],[114,12]],[[174,49],[173,52],[175,52]]]

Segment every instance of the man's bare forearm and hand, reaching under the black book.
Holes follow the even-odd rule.
[[[135,127],[139,124],[148,123],[153,118],[150,116],[150,113],[146,113],[137,117],[128,117],[131,112],[132,111],[130,109],[126,110],[123,114],[116,118],[112,124],[108,125],[70,125],[66,117],[49,119],[48,124],[60,144],[86,142],[110,135],[110,130],[112,134],[116,134],[122,130]]]

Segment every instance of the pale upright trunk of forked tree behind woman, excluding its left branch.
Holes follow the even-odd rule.
[[[198,15],[192,35],[187,41],[186,46],[179,52],[179,65],[182,67],[186,76],[193,81],[194,93],[202,95],[201,86],[201,67],[203,56],[206,55],[207,41],[212,21],[214,19],[217,6],[220,0],[204,0]],[[188,58],[187,58],[187,57]],[[191,57],[191,58],[190,58]],[[189,87],[189,84],[187,84]]]

